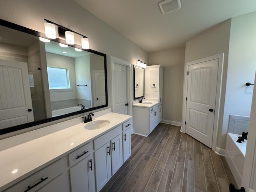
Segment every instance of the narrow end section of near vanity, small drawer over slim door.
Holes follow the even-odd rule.
[[[123,127],[123,163],[131,156],[131,120],[122,124]]]

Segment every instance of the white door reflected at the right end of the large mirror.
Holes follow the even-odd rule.
[[[105,95],[105,73],[103,70],[93,70],[93,84],[94,84],[94,107],[106,104]]]

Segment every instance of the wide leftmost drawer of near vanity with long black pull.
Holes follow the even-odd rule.
[[[63,171],[64,161],[63,159],[60,159],[32,176],[24,179],[22,182],[12,186],[5,192],[34,192],[62,174]]]

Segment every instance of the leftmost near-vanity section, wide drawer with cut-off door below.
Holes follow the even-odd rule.
[[[4,192],[68,192],[68,179],[61,158]]]

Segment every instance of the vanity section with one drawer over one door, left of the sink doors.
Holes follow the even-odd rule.
[[[95,192],[92,142],[68,155],[71,192]]]

